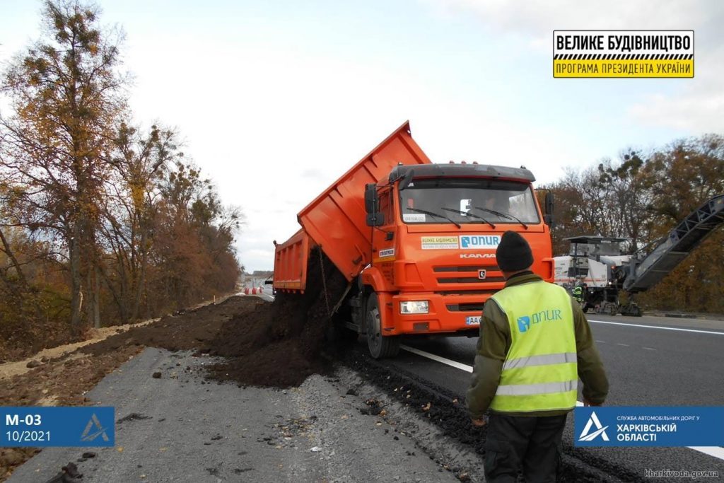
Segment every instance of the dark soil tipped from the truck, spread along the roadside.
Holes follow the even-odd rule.
[[[222,356],[208,377],[237,385],[291,387],[310,374],[329,371],[321,357],[329,337],[334,304],[348,282],[315,248],[303,294],[277,293],[269,303],[256,297],[232,297],[217,305],[165,316],[135,327],[81,352],[99,356],[127,347],[196,350],[198,356]],[[335,345],[336,346],[336,345]]]

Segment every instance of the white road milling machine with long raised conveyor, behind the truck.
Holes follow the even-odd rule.
[[[566,238],[571,251],[555,257],[555,283],[568,289],[584,284],[584,311],[592,308],[598,314],[640,316],[641,308],[632,297],[620,303],[620,293],[649,290],[723,222],[724,195],[719,195],[692,211],[666,237],[632,255],[621,250],[626,238]]]

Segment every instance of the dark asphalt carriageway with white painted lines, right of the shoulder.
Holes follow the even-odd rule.
[[[597,314],[588,318],[610,380],[606,406],[724,403],[724,321]],[[474,337],[411,340],[400,356],[385,364],[464,395],[475,345]],[[572,417],[564,440],[573,441]],[[715,470],[724,476],[724,448],[577,448],[576,453],[584,460],[602,458],[612,473],[625,470],[644,476],[644,469],[688,469]]]

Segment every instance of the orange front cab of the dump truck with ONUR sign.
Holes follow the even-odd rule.
[[[368,300],[376,298],[366,311],[368,339],[379,326],[379,343],[393,346],[382,352],[390,352],[397,335],[477,335],[483,304],[505,285],[495,250],[507,230],[526,238],[533,271],[552,281],[534,180],[524,167],[421,164],[368,185],[373,255],[361,282]],[[379,321],[369,319],[374,311]]]

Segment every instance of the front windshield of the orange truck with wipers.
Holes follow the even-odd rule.
[[[429,178],[413,180],[400,191],[400,212],[408,224],[445,223],[421,213],[441,210],[452,223],[494,224],[539,222],[530,185],[523,182],[479,178]],[[484,223],[483,222],[483,223]]]

